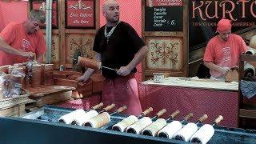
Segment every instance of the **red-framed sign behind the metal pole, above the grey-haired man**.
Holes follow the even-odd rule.
[[[58,2],[53,1],[52,4],[52,26],[58,28]],[[30,1],[31,10],[42,10],[46,12],[46,0],[33,0]],[[46,26],[46,25],[45,25]]]

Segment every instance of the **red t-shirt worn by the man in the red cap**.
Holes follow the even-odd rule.
[[[246,42],[237,34],[230,34],[230,38],[226,42],[215,36],[206,46],[203,61],[232,68],[238,66],[239,54],[245,52],[246,47]],[[222,73],[214,70],[210,70],[210,74],[214,78],[224,77]]]

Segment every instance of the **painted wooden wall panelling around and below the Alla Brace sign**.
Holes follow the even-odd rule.
[[[52,30],[52,53],[51,61],[54,68],[60,65],[65,68],[73,68],[73,61],[70,58],[78,58],[78,55],[86,58],[94,58],[92,46],[94,36],[99,28],[99,1],[95,2],[95,27],[94,28],[66,28],[66,2],[58,1],[58,27]],[[45,1],[42,1],[45,2]],[[81,1],[82,2],[82,1]],[[30,6],[30,5],[29,5]],[[30,7],[29,9],[30,10]],[[42,29],[43,34],[46,30]]]

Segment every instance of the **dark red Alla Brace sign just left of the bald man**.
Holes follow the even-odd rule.
[[[67,0],[66,1],[67,28],[94,28],[95,1]]]

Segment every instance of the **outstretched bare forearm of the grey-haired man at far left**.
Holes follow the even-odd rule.
[[[2,37],[0,37],[0,50],[2,50],[3,52],[9,53],[9,54],[17,54],[17,55],[20,55],[22,57],[28,57],[28,58],[33,58],[34,57],[34,53],[32,53],[32,52],[24,52],[24,51],[14,49],[10,45],[8,45],[2,39]]]

